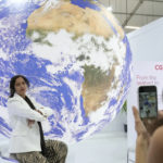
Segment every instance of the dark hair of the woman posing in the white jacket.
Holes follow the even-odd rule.
[[[23,75],[13,76],[10,80],[10,98],[12,98],[15,93],[15,82],[18,77],[22,77],[25,80],[26,85],[29,87],[29,80],[25,76]]]

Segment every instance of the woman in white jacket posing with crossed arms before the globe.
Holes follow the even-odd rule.
[[[42,121],[52,114],[52,110],[37,103],[26,96],[28,79],[16,75],[10,82],[8,100],[12,127],[10,153],[21,163],[64,163],[67,154],[65,143],[46,140],[41,127]]]

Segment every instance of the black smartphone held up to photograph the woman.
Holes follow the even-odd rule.
[[[141,120],[158,116],[158,93],[155,86],[140,86],[138,88],[139,114]]]

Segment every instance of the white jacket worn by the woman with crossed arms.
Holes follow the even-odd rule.
[[[32,110],[28,103],[17,93],[8,100],[10,125],[12,135],[10,139],[10,153],[22,153],[30,151],[41,151],[40,133],[37,122],[47,120],[53,112],[49,108],[45,108],[37,103],[33,98],[30,101],[37,110],[40,110],[43,115],[35,110]],[[35,123],[29,127],[28,120],[34,120]]]

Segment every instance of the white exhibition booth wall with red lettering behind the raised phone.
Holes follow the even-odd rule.
[[[163,108],[163,18],[128,34],[133,51],[133,82],[127,98],[128,154],[135,158],[136,131],[131,106],[138,108],[138,87],[155,85],[158,108]]]

